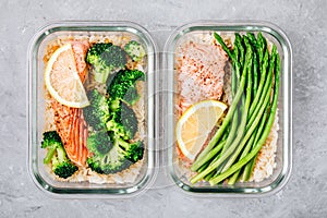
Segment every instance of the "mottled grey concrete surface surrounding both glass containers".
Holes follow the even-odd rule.
[[[327,69],[325,0],[286,1],[0,1],[0,217],[327,217]],[[37,28],[53,20],[130,20],[162,47],[178,25],[195,20],[264,20],[293,46],[293,172],[264,198],[195,198],[160,173],[131,199],[55,199],[26,167],[26,52]],[[165,186],[165,187],[164,187]]]

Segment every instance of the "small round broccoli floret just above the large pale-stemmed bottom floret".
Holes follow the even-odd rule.
[[[94,132],[87,137],[87,148],[96,156],[106,155],[112,146],[112,141],[107,131]]]

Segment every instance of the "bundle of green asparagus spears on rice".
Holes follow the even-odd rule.
[[[255,98],[254,98],[250,109],[249,109],[249,105],[247,105],[246,100],[245,100],[246,104],[244,105],[244,111],[243,112],[245,112],[245,111],[249,112],[249,110],[250,110],[250,112],[252,112],[252,117],[251,117],[251,114],[249,114],[247,116],[247,122],[246,122],[246,119],[245,119],[245,122],[242,122],[243,118],[244,118],[243,117],[244,113],[241,113],[241,116],[242,116],[241,117],[242,118],[241,124],[247,123],[246,124],[245,136],[242,137],[243,133],[242,133],[242,131],[239,131],[238,133],[241,132],[241,134],[238,134],[238,136],[234,138],[234,141],[232,142],[232,144],[230,145],[229,148],[227,148],[227,149],[222,148],[222,150],[221,150],[221,143],[219,143],[217,145],[217,147],[215,147],[216,143],[219,142],[219,140],[221,138],[221,135],[223,135],[223,134],[226,135],[226,133],[227,133],[226,129],[228,129],[231,118],[234,117],[235,114],[238,114],[237,106],[240,104],[239,101],[240,101],[243,88],[245,86],[245,83],[246,83],[246,80],[244,78],[245,77],[244,76],[244,69],[247,69],[247,64],[249,64],[249,61],[246,62],[246,59],[247,59],[246,57],[247,57],[247,53],[249,53],[249,49],[246,49],[245,61],[244,61],[244,65],[243,65],[242,64],[243,63],[242,56],[241,56],[242,48],[243,48],[241,36],[240,35],[235,36],[234,51],[231,52],[231,51],[229,51],[229,49],[225,45],[222,38],[216,33],[214,35],[215,35],[215,38],[217,39],[217,41],[221,45],[221,47],[226,50],[226,52],[229,55],[230,59],[232,60],[232,65],[233,65],[233,69],[234,69],[234,71],[232,72],[233,73],[232,76],[238,75],[238,74],[240,75],[241,70],[242,70],[242,76],[241,76],[240,80],[235,80],[235,76],[232,77],[232,94],[235,94],[235,95],[233,96],[234,99],[232,100],[232,105],[230,107],[230,110],[231,110],[232,106],[234,105],[233,111],[232,112],[230,112],[230,110],[228,111],[227,117],[229,116],[229,113],[230,113],[230,116],[228,118],[228,121],[225,124],[223,130],[221,131],[220,129],[221,129],[221,126],[223,126],[225,121],[222,122],[220,129],[216,132],[216,134],[211,138],[211,141],[210,141],[211,145],[209,143],[210,147],[208,145],[206,147],[207,152],[204,153],[205,152],[204,150],[198,156],[196,161],[192,165],[192,168],[194,168],[195,170],[198,169],[198,172],[199,172],[197,175],[195,175],[191,179],[192,183],[195,183],[198,180],[204,178],[205,180],[209,180],[210,184],[216,184],[216,183],[219,183],[220,181],[222,181],[223,179],[230,177],[233,173],[234,174],[231,177],[229,183],[234,183],[237,181],[238,177],[239,177],[240,169],[243,168],[244,165],[246,165],[250,160],[252,160],[252,161],[249,162],[246,165],[246,167],[244,168],[242,178],[246,178],[246,175],[249,174],[249,170],[250,170],[250,173],[251,173],[251,167],[253,166],[251,164],[254,162],[254,159],[255,159],[254,157],[256,156],[257,152],[259,150],[259,148],[262,146],[261,143],[263,142],[263,137],[265,136],[265,134],[267,132],[267,128],[269,128],[268,125],[266,125],[265,130],[263,130],[264,124],[266,124],[265,121],[266,121],[266,117],[267,117],[267,112],[268,112],[268,110],[266,109],[266,106],[270,100],[270,93],[271,93],[271,86],[272,86],[272,82],[271,82],[272,72],[271,72],[270,69],[271,69],[271,65],[274,65],[275,56],[276,56],[276,63],[277,63],[278,66],[276,66],[276,73],[275,73],[276,82],[275,82],[275,89],[274,89],[274,97],[272,97],[274,99],[272,99],[272,107],[269,111],[270,114],[269,114],[269,118],[268,118],[268,124],[269,124],[269,122],[271,122],[270,117],[271,117],[271,113],[274,112],[274,106],[277,104],[276,101],[277,101],[277,98],[278,98],[278,87],[277,86],[279,86],[279,56],[276,52],[276,47],[274,46],[275,48],[272,47],[272,51],[271,51],[272,58],[271,58],[271,61],[269,63],[270,68],[269,68],[268,77],[267,77],[268,82],[265,83],[266,82],[266,80],[265,80],[266,70],[267,70],[267,65],[268,65],[268,62],[269,62],[269,55],[268,55],[268,50],[265,49],[266,48],[265,38],[262,36],[262,34],[258,34],[258,38],[257,38],[257,43],[256,43],[257,47],[255,47],[255,49],[252,49],[250,47],[250,50],[253,50],[253,57],[251,58],[251,63],[253,61],[253,69],[249,70],[250,71],[249,73],[251,74],[252,73],[251,71],[253,70],[253,74],[254,74],[255,69],[261,69],[261,76],[259,76],[259,84],[257,86],[257,92],[255,92],[255,90],[253,92]],[[244,38],[246,38],[246,37],[244,37]],[[245,41],[246,47],[249,47],[250,40],[252,40],[252,45],[254,45],[252,35],[250,35],[250,37],[247,37],[247,39],[245,39],[245,40],[246,40]],[[238,46],[235,46],[235,45],[238,45]],[[243,51],[244,51],[244,48],[243,48]],[[256,53],[255,51],[257,51],[258,53]],[[240,62],[239,62],[239,60],[240,60]],[[258,62],[259,62],[259,68],[257,68],[257,66],[255,68],[254,65],[257,64]],[[271,73],[271,76],[269,76],[270,73]],[[253,80],[257,81],[258,80],[257,76],[258,76],[258,72],[257,72],[257,75],[253,75]],[[247,78],[247,80],[251,81],[251,78]],[[235,87],[235,84],[237,84],[238,81],[240,81],[240,85],[239,85],[240,87],[239,88]],[[267,84],[269,84],[269,85],[267,85]],[[246,85],[249,86],[249,84],[246,84]],[[267,86],[268,86],[268,88],[267,88]],[[277,92],[276,92],[276,89],[277,89]],[[249,92],[249,89],[246,88],[246,93],[247,92]],[[246,96],[249,96],[249,95],[246,95]],[[235,98],[237,97],[238,97],[238,102],[235,104]],[[264,100],[263,100],[263,98],[264,98]],[[247,100],[249,100],[249,98],[247,98]],[[251,109],[252,109],[252,111],[251,111]],[[263,116],[264,110],[265,110],[265,113]],[[276,109],[275,109],[275,113],[276,113]],[[256,114],[257,118],[254,119],[254,114]],[[234,120],[232,122],[234,122]],[[258,123],[261,123],[259,126],[257,126]],[[219,133],[219,131],[220,131],[220,133]],[[230,129],[229,133],[231,133],[234,130]],[[250,140],[249,140],[249,137],[250,137]],[[241,143],[240,143],[240,140],[242,140]],[[247,142],[247,145],[245,146],[245,149],[243,149],[246,142]],[[240,143],[240,145],[239,145],[239,143]],[[225,142],[223,147],[226,145],[227,145],[227,141]],[[258,148],[258,146],[259,146],[259,148]],[[213,148],[216,149],[215,150],[216,155],[214,155]],[[237,152],[233,153],[233,150],[235,148],[237,148]],[[251,150],[251,153],[249,153],[250,148],[253,148]],[[254,154],[254,150],[257,150],[256,154]],[[210,155],[207,155],[209,152],[211,152]],[[237,164],[234,164],[235,158],[239,156],[239,154],[241,152],[242,152],[242,155],[240,157],[240,160]],[[216,158],[214,158],[215,156],[216,156]],[[203,158],[203,160],[202,160],[202,158]],[[213,160],[210,160],[210,159],[213,159]],[[198,166],[195,165],[197,161],[198,161]],[[222,164],[225,164],[225,162],[227,162],[227,164],[223,166],[222,173],[220,173],[219,169],[222,168]],[[241,162],[241,165],[240,165],[240,162]],[[235,168],[238,168],[238,169],[235,170]],[[231,170],[232,170],[232,172],[231,172]],[[225,177],[225,178],[221,179],[222,177]]]

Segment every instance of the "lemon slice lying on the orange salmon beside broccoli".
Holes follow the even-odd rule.
[[[72,108],[89,105],[71,44],[60,47],[51,56],[45,72],[45,83],[50,95],[62,105]]]

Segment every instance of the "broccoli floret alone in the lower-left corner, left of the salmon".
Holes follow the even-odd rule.
[[[56,131],[45,132],[43,137],[41,148],[48,149],[44,162],[52,164],[52,171],[55,174],[66,179],[78,170],[78,168],[66,157],[61,138]]]

